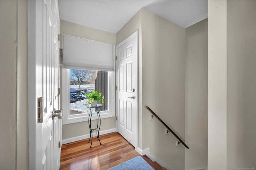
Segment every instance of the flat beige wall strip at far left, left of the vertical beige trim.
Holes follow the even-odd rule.
[[[17,1],[0,1],[0,169],[10,170],[17,148],[17,13]]]

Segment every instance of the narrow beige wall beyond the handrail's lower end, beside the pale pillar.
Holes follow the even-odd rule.
[[[207,169],[208,29],[207,19],[186,28],[185,170]]]

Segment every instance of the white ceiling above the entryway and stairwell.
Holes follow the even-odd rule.
[[[207,18],[207,0],[59,0],[60,19],[117,33],[141,8],[187,28]]]

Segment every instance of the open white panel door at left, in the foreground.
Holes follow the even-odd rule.
[[[28,1],[29,169],[58,170],[59,109],[58,0]],[[40,109],[42,108],[42,109]],[[42,113],[42,115],[40,115]]]

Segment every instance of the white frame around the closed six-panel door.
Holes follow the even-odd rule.
[[[133,37],[136,37],[136,43],[137,43],[137,51],[136,51],[136,57],[135,57],[135,60],[137,61],[137,67],[136,67],[136,73],[137,73],[137,87],[135,87],[137,90],[136,90],[136,97],[137,97],[137,102],[136,102],[136,123],[135,123],[135,125],[136,125],[136,127],[135,127],[135,146],[134,146],[134,148],[135,148],[135,150],[138,152],[138,103],[139,103],[139,98],[138,98],[138,78],[139,78],[139,76],[138,76],[138,55],[139,55],[139,44],[138,44],[138,30],[136,30],[134,33],[132,33],[130,36],[128,36],[128,38],[126,38],[125,40],[123,40],[122,42],[120,42],[118,45],[116,45],[116,56],[117,56],[117,48],[118,47],[120,47],[120,46],[122,46],[122,45],[124,45],[124,43],[126,43],[126,42],[128,42],[130,39],[132,39]],[[117,87],[117,72],[116,72],[116,66],[117,66],[117,59],[116,59],[116,62],[115,62],[115,77],[116,77],[116,83],[115,83],[115,85],[116,85],[116,87]],[[115,102],[116,102],[116,117],[118,116],[117,115],[117,113],[118,113],[118,105],[117,105],[117,89],[116,89],[116,100],[115,100]],[[118,132],[118,121],[116,120],[116,132]]]

